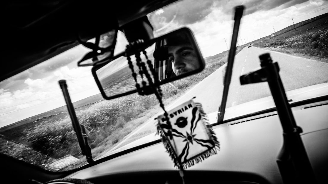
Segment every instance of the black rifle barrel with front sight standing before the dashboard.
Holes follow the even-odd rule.
[[[273,62],[269,53],[259,56],[261,69],[240,76],[240,84],[268,82],[283,130],[283,145],[277,158],[277,165],[283,183],[317,183],[311,162],[306,153],[293,112],[287,100],[279,75],[279,65]]]

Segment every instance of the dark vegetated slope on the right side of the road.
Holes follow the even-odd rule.
[[[328,58],[328,28],[300,34],[276,42],[260,42],[258,47],[277,48],[280,52],[295,52],[319,58]]]

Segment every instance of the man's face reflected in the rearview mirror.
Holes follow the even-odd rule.
[[[194,47],[191,44],[182,44],[168,47],[169,60],[176,76],[198,69],[199,62]]]

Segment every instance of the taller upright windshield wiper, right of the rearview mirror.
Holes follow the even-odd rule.
[[[225,108],[226,108],[227,98],[228,98],[228,92],[229,92],[229,86],[230,86],[230,82],[231,82],[232,68],[234,65],[235,54],[236,54],[236,43],[237,43],[237,38],[238,38],[240,19],[243,15],[243,11],[244,11],[244,6],[237,6],[235,8],[235,17],[234,17],[235,23],[234,23],[233,33],[232,33],[232,40],[231,40],[231,46],[230,46],[230,51],[229,51],[229,56],[228,56],[226,73],[224,76],[224,82],[223,82],[224,88],[223,88],[222,101],[221,101],[221,106],[218,109],[217,117],[216,117],[218,124],[223,123],[223,118],[224,118],[224,113],[225,113]]]

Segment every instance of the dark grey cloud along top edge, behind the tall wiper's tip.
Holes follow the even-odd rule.
[[[190,25],[204,20],[214,9],[220,8],[226,15],[232,15],[233,8],[244,5],[244,15],[273,8],[289,8],[308,0],[190,0],[179,1],[171,6],[154,11],[149,19],[155,30],[161,29],[167,23],[174,21],[179,25]],[[223,17],[218,17],[222,19]],[[224,17],[225,18],[225,17]]]

